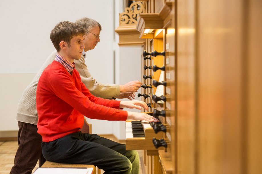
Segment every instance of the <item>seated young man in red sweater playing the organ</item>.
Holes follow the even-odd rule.
[[[43,71],[36,91],[42,153],[49,161],[93,164],[105,173],[139,173],[135,150],[125,150],[124,144],[80,131],[83,115],[101,120],[158,121],[145,113],[122,110],[124,107],[148,110],[145,102],[107,100],[89,92],[74,65],[85,47],[84,33],[77,24],[65,21],[58,23],[50,34],[58,53]]]

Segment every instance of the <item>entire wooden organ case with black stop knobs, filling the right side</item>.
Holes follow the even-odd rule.
[[[144,48],[139,96],[163,125],[126,147],[150,174],[261,173],[261,1],[136,2],[135,36],[116,32]]]

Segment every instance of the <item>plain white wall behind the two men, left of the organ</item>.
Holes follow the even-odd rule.
[[[104,0],[0,1],[0,77],[5,80],[1,80],[0,85],[1,131],[18,130],[15,120],[18,100],[32,80],[32,74],[54,50],[50,31],[60,21],[75,22],[78,18],[89,17],[101,24],[101,42],[87,52],[86,64],[97,81],[113,83],[112,14],[112,1]],[[112,122],[104,126],[96,126],[100,121],[90,122],[93,133],[112,133]]]

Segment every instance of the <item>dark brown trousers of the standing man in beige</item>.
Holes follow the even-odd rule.
[[[36,166],[39,159],[39,167],[46,161],[42,155],[42,137],[37,133],[34,124],[18,121],[18,149],[15,154],[15,165],[11,174],[28,174]]]

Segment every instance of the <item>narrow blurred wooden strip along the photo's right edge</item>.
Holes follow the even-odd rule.
[[[245,6],[246,7],[246,6]],[[248,76],[248,112],[245,115],[247,119],[247,173],[259,174],[262,171],[262,1],[251,0],[249,1],[249,14],[248,18],[248,54],[247,70]]]

